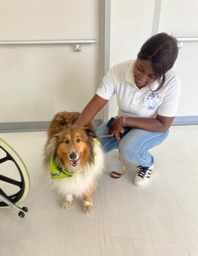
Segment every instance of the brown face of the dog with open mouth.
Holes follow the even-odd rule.
[[[93,130],[71,126],[57,136],[54,156],[68,168],[94,162],[93,137],[96,137]]]

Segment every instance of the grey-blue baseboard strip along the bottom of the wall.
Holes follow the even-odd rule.
[[[38,122],[13,122],[0,123],[0,133],[3,132],[25,132],[25,131],[46,131],[49,121]],[[102,119],[95,119],[96,127],[102,124]],[[198,116],[175,117],[172,126],[198,125]]]

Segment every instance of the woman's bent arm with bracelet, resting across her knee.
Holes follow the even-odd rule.
[[[126,118],[125,122],[123,121],[123,117],[119,117],[116,119],[109,127],[109,132],[115,133],[123,126],[139,128],[148,131],[156,131],[156,132],[166,132],[172,122],[174,117],[163,117],[157,115],[155,118]]]

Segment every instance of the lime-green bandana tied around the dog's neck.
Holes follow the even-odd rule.
[[[101,145],[101,143],[97,139],[94,139],[94,142]],[[94,157],[96,155],[97,155],[97,153],[94,152]],[[75,172],[73,174],[66,172],[60,164],[57,164],[53,160],[53,155],[52,155],[50,158],[50,172],[51,172],[51,180],[53,180],[53,179],[71,178],[71,177],[81,173],[81,170],[78,170],[77,172]]]

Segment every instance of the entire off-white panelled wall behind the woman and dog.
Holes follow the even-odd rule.
[[[154,6],[155,0],[111,0],[110,67],[136,58],[151,36]],[[159,32],[198,36],[197,13],[197,0],[162,0]],[[73,46],[0,46],[0,122],[82,111],[103,76],[103,15],[104,0],[0,1],[0,40],[98,41],[80,53]],[[198,43],[184,43],[174,66],[182,78],[177,116],[198,115],[197,56]],[[108,115],[116,114],[114,97]]]

